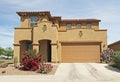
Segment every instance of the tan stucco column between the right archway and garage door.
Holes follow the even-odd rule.
[[[52,56],[52,62],[58,62],[58,51],[57,51],[57,44],[51,44],[51,56]]]

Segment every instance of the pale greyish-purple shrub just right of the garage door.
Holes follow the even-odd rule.
[[[113,59],[113,56],[114,56],[114,51],[110,48],[107,48],[100,55],[101,62],[110,63]]]

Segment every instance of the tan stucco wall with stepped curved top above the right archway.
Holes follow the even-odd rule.
[[[43,31],[43,27],[46,25],[46,31]],[[51,27],[52,24],[50,22],[42,22],[38,24],[38,27],[34,28],[34,40],[35,44],[38,43],[39,40],[48,39],[51,40],[52,43],[56,43],[58,40],[58,31],[56,27]]]

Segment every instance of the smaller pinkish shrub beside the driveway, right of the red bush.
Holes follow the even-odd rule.
[[[53,66],[51,64],[47,64],[46,62],[42,62],[38,69],[38,73],[46,74],[52,70]]]

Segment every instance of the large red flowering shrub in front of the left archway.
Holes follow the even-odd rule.
[[[41,61],[41,55],[36,55],[33,53],[35,53],[35,51],[24,52],[25,56],[20,64],[24,70],[36,71],[39,69],[39,62]]]

